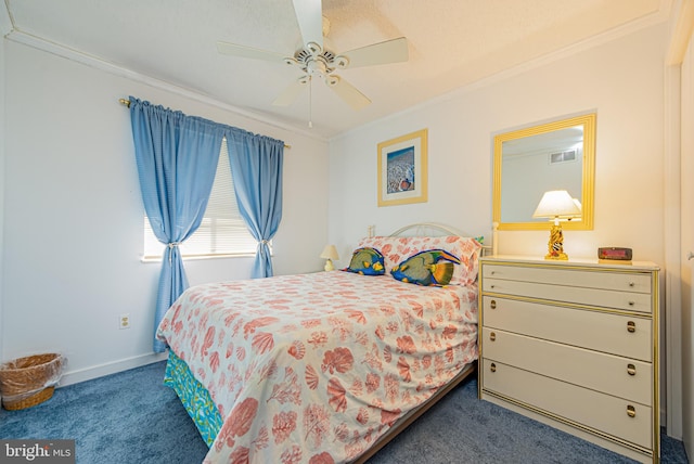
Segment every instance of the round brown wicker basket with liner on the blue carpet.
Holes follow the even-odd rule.
[[[28,356],[0,365],[2,407],[15,411],[51,398],[62,365],[63,359],[56,353]]]

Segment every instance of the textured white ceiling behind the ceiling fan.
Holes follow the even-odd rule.
[[[372,100],[357,112],[320,81],[272,106],[298,69],[217,52],[222,40],[293,55],[301,36],[291,0],[5,0],[11,40],[64,47],[324,139],[592,37],[664,21],[669,4],[323,0],[329,50],[408,38],[408,62],[338,73]]]

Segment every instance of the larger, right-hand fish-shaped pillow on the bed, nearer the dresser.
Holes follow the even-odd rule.
[[[390,270],[390,274],[406,283],[424,286],[448,285],[460,259],[445,249],[427,249],[410,256]]]

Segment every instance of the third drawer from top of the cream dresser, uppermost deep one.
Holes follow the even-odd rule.
[[[483,296],[483,323],[522,335],[652,362],[652,321],[530,301]],[[631,332],[633,330],[633,332]]]

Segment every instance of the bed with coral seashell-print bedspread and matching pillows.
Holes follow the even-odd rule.
[[[206,463],[364,462],[474,371],[481,246],[410,230],[356,247],[375,250],[381,274],[374,261],[204,284],[171,306],[157,330],[165,384],[209,446]],[[458,258],[446,285],[394,279],[434,249]]]

